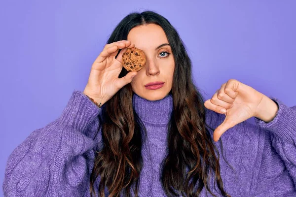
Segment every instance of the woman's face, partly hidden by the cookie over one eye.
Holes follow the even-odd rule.
[[[174,56],[166,34],[160,26],[148,24],[133,28],[127,40],[146,54],[146,66],[138,71],[131,82],[133,91],[144,99],[163,99],[172,89],[175,69]],[[164,84],[156,90],[145,87],[146,84],[155,81]]]

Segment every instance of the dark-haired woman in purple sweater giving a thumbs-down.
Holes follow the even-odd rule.
[[[121,64],[132,47],[147,58],[138,72]],[[256,125],[246,122],[251,117]],[[146,11],[116,26],[84,91],[75,90],[57,120],[12,152],[3,191],[7,197],[288,197],[296,196],[295,183],[296,106],[235,79],[204,101],[179,34]]]

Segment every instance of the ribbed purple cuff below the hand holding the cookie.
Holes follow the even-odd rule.
[[[62,124],[67,124],[75,130],[83,132],[101,111],[102,109],[81,91],[74,90],[59,120]]]

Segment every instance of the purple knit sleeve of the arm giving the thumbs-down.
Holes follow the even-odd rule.
[[[256,197],[296,196],[296,106],[288,107],[279,99],[279,110],[269,122],[255,118],[260,132],[264,133],[264,145],[259,169],[254,180]]]

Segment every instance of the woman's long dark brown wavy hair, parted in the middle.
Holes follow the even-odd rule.
[[[215,181],[221,194],[230,197],[223,189],[219,152],[206,128],[204,99],[191,79],[191,61],[176,29],[166,18],[153,11],[133,12],[115,27],[108,44],[126,40],[132,28],[151,23],[159,25],[164,30],[175,60],[173,85],[169,93],[173,96],[173,111],[168,123],[168,156],[163,160],[160,172],[163,189],[167,196],[182,194],[197,197],[205,187],[215,196],[209,188],[208,180],[210,170],[214,170]],[[123,67],[119,78],[127,73]],[[96,152],[90,176],[91,196],[96,195],[94,183],[98,175],[101,178],[98,188],[101,197],[105,197],[106,186],[109,197],[117,197],[120,194],[130,197],[133,184],[136,186],[134,194],[138,196],[139,175],[143,166],[143,141],[139,139],[142,139],[142,131],[145,131],[145,136],[147,131],[133,109],[133,94],[129,83],[102,107],[103,118],[100,118],[98,132],[102,127],[103,149]],[[212,129],[208,125],[207,127]],[[222,146],[221,139],[220,144]],[[186,168],[189,169],[188,173]],[[194,192],[197,182],[198,187]]]

